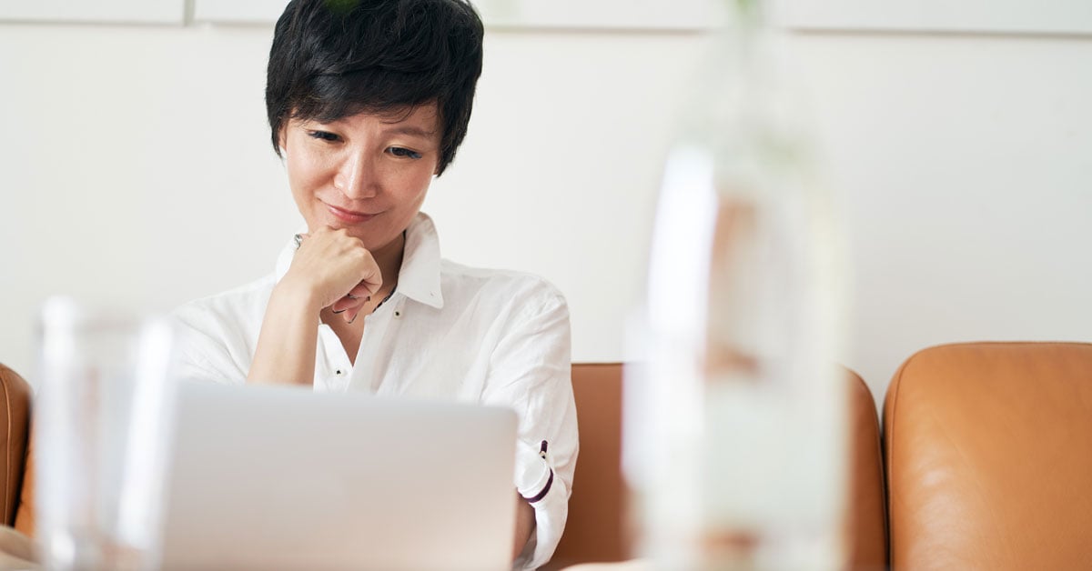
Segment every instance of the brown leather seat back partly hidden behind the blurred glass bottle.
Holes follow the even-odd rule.
[[[883,474],[876,402],[858,376],[847,372],[852,426],[847,525],[851,569],[887,564]],[[626,487],[620,469],[620,364],[572,366],[580,425],[580,456],[573,475],[569,520],[545,569],[632,557],[626,542]]]

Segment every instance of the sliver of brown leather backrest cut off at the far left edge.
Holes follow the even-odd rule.
[[[31,385],[19,373],[0,365],[0,514],[5,525],[15,523],[29,424]]]

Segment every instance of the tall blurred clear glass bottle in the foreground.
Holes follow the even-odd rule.
[[[842,567],[843,288],[784,43],[757,0],[696,83],[654,221],[625,462],[657,569]]]

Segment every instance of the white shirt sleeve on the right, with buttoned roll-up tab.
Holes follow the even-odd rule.
[[[549,288],[512,317],[490,359],[485,404],[519,417],[515,488],[535,510],[535,530],[513,569],[549,561],[561,539],[579,448],[572,395],[569,310]]]

